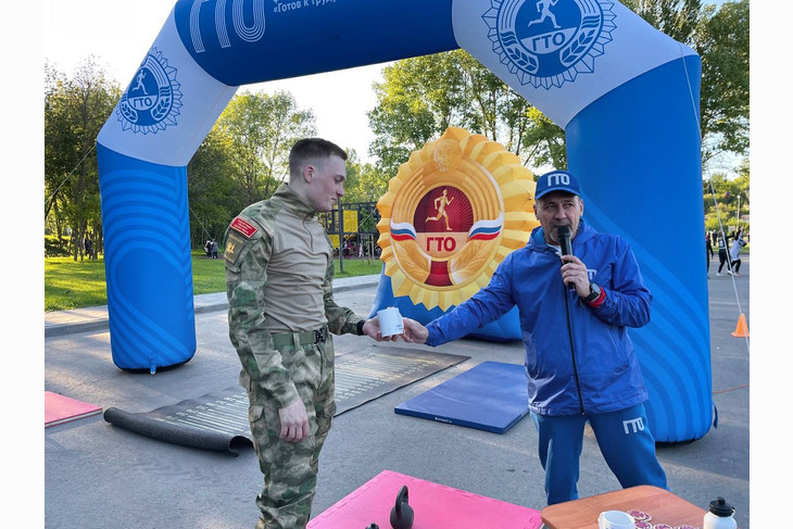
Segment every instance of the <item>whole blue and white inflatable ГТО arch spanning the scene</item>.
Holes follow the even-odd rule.
[[[656,438],[704,436],[701,62],[607,0],[177,1],[97,139],[116,366],[196,352],[187,163],[239,86],[457,48],[565,129],[588,222],[631,243],[654,295],[631,336]]]

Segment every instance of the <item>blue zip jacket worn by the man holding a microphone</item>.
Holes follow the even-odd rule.
[[[580,222],[572,253],[590,280],[606,292],[591,307],[562,281],[562,261],[541,227],[526,247],[508,254],[490,284],[427,325],[428,345],[439,345],[519,310],[529,410],[577,415],[622,410],[647,400],[627,327],[650,320],[652,295],[628,243]]]

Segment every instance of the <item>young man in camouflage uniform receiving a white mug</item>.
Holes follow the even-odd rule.
[[[329,332],[382,340],[376,317],[333,301],[332,245],[316,218],[344,194],[345,160],[329,141],[298,141],[289,184],[246,207],[225,235],[229,337],[264,474],[261,529],[309,522],[319,451],[336,412]]]

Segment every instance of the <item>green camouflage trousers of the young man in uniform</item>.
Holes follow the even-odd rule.
[[[316,489],[319,452],[336,413],[333,343],[279,348],[284,366],[305,404],[309,437],[290,443],[278,438],[278,403],[246,370],[240,383],[248,391],[253,446],[264,475],[264,489],[256,496],[262,517],[256,529],[303,529],[311,517]]]

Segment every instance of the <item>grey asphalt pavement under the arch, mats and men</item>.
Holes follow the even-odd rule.
[[[748,339],[731,332],[741,313],[751,324],[750,270],[746,256],[740,277],[716,277],[712,262],[710,352],[718,427],[694,442],[658,448],[672,492],[702,508],[717,495],[726,497],[743,529],[750,528],[750,351]],[[339,279],[337,302],[368,315],[377,280]],[[106,307],[47,313],[45,390],[102,410],[136,413],[236,383],[239,361],[228,340],[225,293],[196,297],[196,331],[198,349],[187,364],[153,376],[133,374],[112,362]],[[363,340],[372,343],[365,337],[335,337],[337,354],[354,351]],[[542,509],[543,471],[537,431],[528,417],[498,434],[393,411],[482,362],[521,364],[521,344],[458,340],[437,351],[470,360],[335,418],[320,457],[315,515],[383,469]],[[262,475],[252,449],[234,457],[184,448],[114,427],[101,414],[46,428],[43,444],[47,528],[236,529],[252,528],[259,516],[254,499]],[[617,489],[588,431],[581,496]]]

